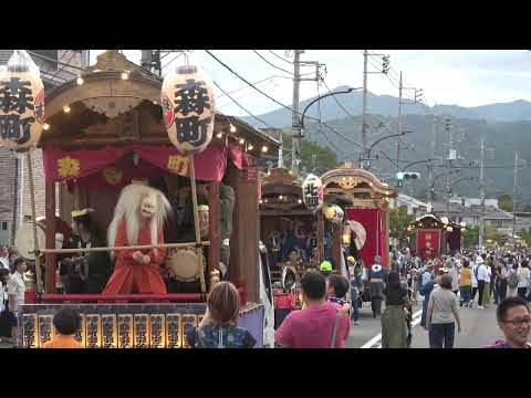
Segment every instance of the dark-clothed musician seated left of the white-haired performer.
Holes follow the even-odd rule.
[[[103,233],[93,218],[93,209],[72,211],[73,235],[69,249],[103,248],[106,245]],[[67,294],[101,293],[111,274],[107,252],[79,252],[60,262],[60,273]]]

